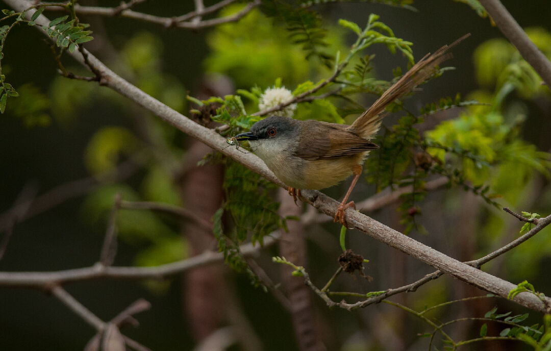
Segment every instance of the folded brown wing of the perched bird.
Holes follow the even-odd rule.
[[[347,130],[347,125],[305,121],[295,156],[315,161],[355,155],[379,148],[367,139]]]

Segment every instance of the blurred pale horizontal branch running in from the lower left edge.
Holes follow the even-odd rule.
[[[278,233],[266,237],[263,247],[273,245],[278,237]],[[246,244],[240,247],[240,251],[244,256],[254,256],[260,249],[260,246],[255,247],[252,244]],[[55,272],[0,272],[0,286],[41,289],[47,288],[52,283],[62,285],[68,282],[98,278],[162,279],[167,276],[180,274],[192,268],[222,261],[224,261],[223,252],[206,251],[200,255],[187,258],[186,260],[162,264],[156,267],[115,267],[95,264],[92,267],[67,269],[65,271]]]

